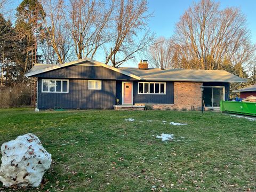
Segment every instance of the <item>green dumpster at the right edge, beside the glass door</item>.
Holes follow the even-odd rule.
[[[220,111],[256,116],[256,102],[220,101]]]

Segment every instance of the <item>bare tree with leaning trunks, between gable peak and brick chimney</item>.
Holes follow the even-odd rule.
[[[111,62],[114,67],[118,67],[134,58],[135,53],[147,49],[154,39],[147,29],[150,17],[146,0],[115,2],[109,33],[111,42],[105,47],[106,64]],[[137,36],[138,33],[142,33],[141,38]]]

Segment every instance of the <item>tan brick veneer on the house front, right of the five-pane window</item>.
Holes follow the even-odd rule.
[[[197,82],[174,82],[174,104],[152,104],[153,109],[200,110],[202,102],[200,87],[202,85],[203,83]],[[144,105],[144,103],[138,103],[135,105]]]

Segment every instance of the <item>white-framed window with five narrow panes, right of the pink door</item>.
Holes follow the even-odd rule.
[[[139,82],[138,94],[165,94],[165,82]]]

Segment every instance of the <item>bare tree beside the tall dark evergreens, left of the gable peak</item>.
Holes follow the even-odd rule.
[[[65,63],[72,58],[71,36],[63,17],[65,4],[62,0],[44,0],[42,1],[45,15],[43,18],[43,27],[45,29],[43,39],[47,45],[52,46],[57,63]],[[54,57],[53,57],[54,58]]]

